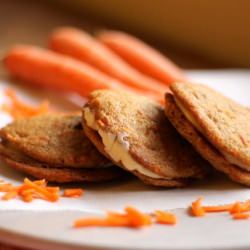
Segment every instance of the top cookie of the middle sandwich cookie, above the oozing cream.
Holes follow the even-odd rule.
[[[102,131],[122,140],[123,150],[146,169],[169,179],[203,175],[206,164],[157,103],[127,92],[102,90],[92,93],[83,113],[87,109]]]

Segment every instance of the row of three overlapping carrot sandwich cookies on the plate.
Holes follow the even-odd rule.
[[[150,185],[182,187],[214,167],[250,185],[249,109],[204,85],[171,90],[165,110],[132,93],[99,90],[82,116],[16,120],[0,131],[0,154],[17,170],[61,183],[129,172]]]

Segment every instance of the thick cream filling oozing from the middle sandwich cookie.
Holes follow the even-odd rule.
[[[127,136],[125,132],[116,136],[112,133],[104,131],[96,123],[95,114],[89,108],[84,109],[84,119],[87,123],[87,126],[97,131],[101,136],[105,152],[110,155],[110,157],[115,162],[121,162],[123,166],[129,171],[137,171],[140,174],[150,178],[163,178],[162,176],[146,169],[132,158],[132,156],[129,154],[129,142],[125,140],[125,137]]]

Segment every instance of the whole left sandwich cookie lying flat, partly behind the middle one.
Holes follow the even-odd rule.
[[[14,121],[0,131],[9,166],[58,183],[105,181],[124,174],[92,145],[77,115],[47,114]]]

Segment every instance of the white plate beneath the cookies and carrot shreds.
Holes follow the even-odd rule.
[[[208,84],[250,106],[249,71],[189,71],[192,79]],[[8,83],[7,83],[8,84]],[[24,95],[25,96],[25,95]],[[30,101],[30,98],[28,98]],[[53,100],[53,98],[52,98]],[[68,105],[68,104],[67,104]],[[66,106],[67,106],[66,105]],[[59,105],[61,106],[61,104]],[[0,178],[19,182],[21,175],[0,171]],[[185,189],[146,187],[138,181],[83,185],[80,200],[51,204],[36,201],[1,202],[0,241],[34,249],[249,249],[249,221],[234,221],[228,214],[192,218],[186,209],[173,210],[176,226],[154,225],[142,230],[124,228],[73,229],[74,219],[121,210],[131,204],[145,211],[187,207],[203,194],[208,204],[248,199],[250,190],[225,178],[196,183]],[[8,211],[12,210],[12,211]]]

